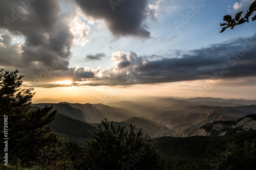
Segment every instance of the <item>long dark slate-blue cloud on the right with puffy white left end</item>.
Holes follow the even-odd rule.
[[[151,84],[256,76],[256,34],[192,50],[177,58],[147,60],[132,53],[115,55],[114,68],[105,70],[107,84]],[[178,57],[180,56],[180,57]],[[137,62],[140,61],[140,62]],[[144,64],[142,64],[144,63]]]

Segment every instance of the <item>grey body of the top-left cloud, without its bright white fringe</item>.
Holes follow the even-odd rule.
[[[60,15],[60,1],[0,0],[0,4],[0,31],[9,31],[2,35],[2,38],[11,37],[12,34],[24,36],[26,40],[19,47],[15,46],[13,57],[5,61],[9,63],[8,66],[38,72],[38,65],[49,66],[52,61],[57,61],[59,66],[54,68],[55,70],[68,69],[74,36],[70,32],[65,16]],[[9,41],[6,37],[3,39]],[[8,51],[11,46],[13,45],[2,46],[5,48],[2,52]],[[7,53],[5,55],[8,56]],[[13,65],[10,65],[11,63]],[[6,66],[5,63],[0,64]]]

